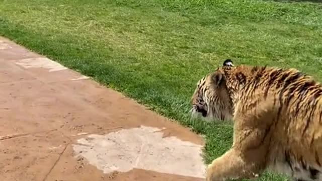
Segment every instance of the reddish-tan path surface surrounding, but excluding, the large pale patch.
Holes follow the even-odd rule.
[[[197,145],[203,145],[203,140],[1,37],[0,86],[0,180],[203,180],[139,168],[103,173],[87,159],[75,157],[72,145],[78,139],[140,126],[159,128],[163,138],[177,137]]]

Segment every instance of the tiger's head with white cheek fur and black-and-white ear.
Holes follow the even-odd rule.
[[[233,67],[227,59],[222,68],[200,79],[191,98],[193,116],[201,115],[208,121],[232,118],[232,102],[226,86],[225,68]]]

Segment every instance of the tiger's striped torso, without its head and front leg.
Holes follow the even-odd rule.
[[[321,180],[322,86],[296,69],[241,67],[233,71],[239,82],[245,81],[239,95],[241,110],[253,109],[267,99],[276,109],[269,128],[272,133],[267,132],[272,137],[269,165],[301,179]]]

